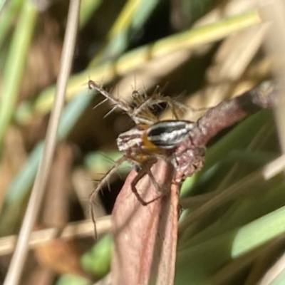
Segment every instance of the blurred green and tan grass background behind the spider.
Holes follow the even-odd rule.
[[[43,150],[68,1],[2,3],[4,279],[11,259],[5,242],[19,232]],[[272,58],[262,48],[265,32],[253,0],[82,0],[58,148],[35,230],[90,218],[88,196],[94,180],[120,157],[115,138],[133,126],[119,111],[104,117],[112,108],[108,102],[93,109],[103,97],[88,90],[89,78],[124,100],[130,100],[133,90],[152,93],[159,84],[165,95],[193,108],[214,106],[271,78]],[[171,118],[161,107],[157,109],[161,118]],[[201,113],[180,115],[197,120]],[[175,284],[257,284],[284,251],[283,179],[257,179],[262,167],[278,155],[268,110],[224,130],[209,143],[204,169],[182,189],[185,211]],[[97,217],[110,214],[129,169],[120,167],[119,175],[110,180],[111,191],[106,185],[95,202]],[[21,284],[93,284],[108,274],[112,239],[105,230],[94,244],[92,223],[89,227],[88,237],[37,245],[28,256]]]

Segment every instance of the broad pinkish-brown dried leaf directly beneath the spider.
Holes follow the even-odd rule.
[[[132,192],[137,173],[130,172],[112,213],[115,246],[112,284],[172,284],[178,222],[178,186],[172,184],[171,165],[159,160],[152,175],[165,191],[160,199],[142,206]],[[148,175],[136,185],[145,200],[157,197]]]

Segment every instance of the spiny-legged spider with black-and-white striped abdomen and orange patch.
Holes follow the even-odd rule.
[[[157,158],[159,157],[168,160],[174,167],[177,167],[179,164],[175,153],[171,150],[182,142],[182,140],[187,138],[192,128],[195,128],[195,123],[187,120],[179,120],[175,108],[181,109],[187,107],[181,103],[173,102],[170,97],[162,96],[158,88],[156,88],[150,97],[148,97],[146,93],[140,94],[136,90],[133,91],[133,106],[123,100],[114,98],[94,81],[88,81],[88,88],[90,90],[97,90],[105,97],[105,100],[110,100],[114,104],[111,111],[115,110],[115,108],[124,110],[136,124],[134,128],[118,136],[118,149],[125,152],[125,155],[114,163],[113,167],[105,173],[98,185],[96,185],[95,190],[93,190],[90,195],[90,204],[92,205],[93,197],[98,193],[98,190],[105,185],[109,177],[113,175],[113,172],[115,172],[117,167],[125,160],[128,160],[138,169],[138,175],[131,185],[138,201],[142,205],[146,205],[159,199],[163,195],[163,192],[161,191],[160,185],[157,185],[155,177],[153,177],[150,171],[150,167],[157,162]],[[103,100],[103,102],[105,102],[105,100]],[[170,106],[176,120],[159,121],[158,118],[152,114],[151,108],[160,103],[167,103]],[[149,175],[155,189],[157,189],[157,192],[160,192],[160,195],[157,195],[157,197],[147,202],[140,197],[135,187],[138,181],[145,175]],[[94,222],[93,211],[91,211],[91,215]]]

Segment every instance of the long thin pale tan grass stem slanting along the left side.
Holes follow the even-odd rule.
[[[78,25],[79,7],[80,0],[71,1],[70,9],[68,11],[66,38],[63,46],[63,57],[61,60],[61,71],[59,73],[58,86],[56,89],[56,100],[54,101],[53,112],[51,113],[51,120],[48,125],[46,145],[43,152],[43,160],[40,167],[38,168],[36,181],[33,185],[33,190],[31,192],[31,198],[28,202],[28,208],[24,217],[24,222],[19,233],[19,240],[16,245],[11,264],[9,266],[9,271],[4,281],[5,285],[19,284],[21,272],[25,264],[26,254],[28,252],[28,239],[30,237],[31,229],[36,220],[38,210],[41,205],[43,191],[45,189],[46,181],[48,178],[48,171],[51,167],[51,160],[56,147],[56,133],[61,110],[63,108],[64,96],[66,93],[66,83],[71,71],[71,63]]]

